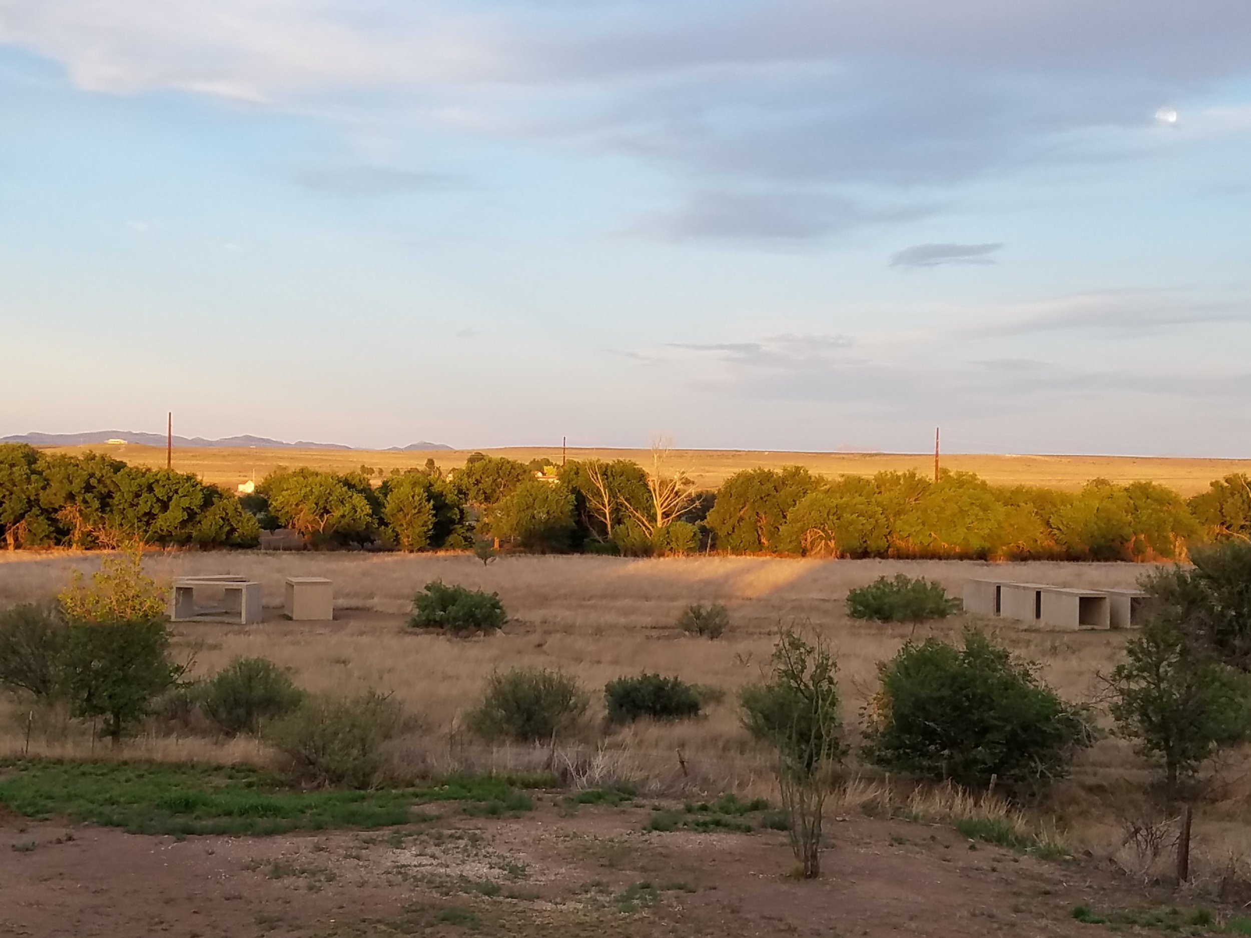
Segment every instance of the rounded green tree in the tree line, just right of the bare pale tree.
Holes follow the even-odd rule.
[[[717,534],[717,547],[736,554],[782,549],[782,525],[804,495],[821,480],[799,465],[746,469],[734,473],[717,490],[717,503],[707,525]]]

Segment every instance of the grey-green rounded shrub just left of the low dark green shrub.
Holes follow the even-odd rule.
[[[578,680],[559,670],[513,668],[490,675],[469,727],[487,739],[547,742],[572,730],[589,703]]]

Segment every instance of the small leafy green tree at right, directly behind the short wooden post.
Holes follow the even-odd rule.
[[[1163,764],[1165,790],[1220,749],[1251,737],[1251,685],[1166,619],[1152,619],[1108,679],[1117,735]]]

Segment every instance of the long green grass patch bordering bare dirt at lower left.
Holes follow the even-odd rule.
[[[0,804],[19,814],[68,817],[135,834],[379,828],[408,823],[414,805],[430,802],[498,805],[487,813],[532,805],[497,777],[452,778],[427,788],[300,792],[249,765],[31,759],[0,773]]]

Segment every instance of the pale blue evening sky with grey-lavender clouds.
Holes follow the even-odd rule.
[[[0,0],[0,435],[1251,456],[1247,0]]]

